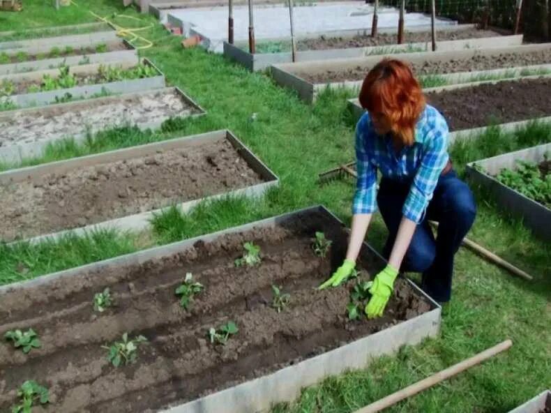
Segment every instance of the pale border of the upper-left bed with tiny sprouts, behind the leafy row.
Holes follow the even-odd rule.
[[[67,66],[78,66],[93,63],[116,63],[117,61],[138,60],[137,50],[126,40],[118,39],[107,45],[123,44],[127,50],[116,50],[114,52],[80,54],[78,56],[54,57],[52,59],[29,60],[17,63],[0,64],[0,75],[11,75],[14,73],[33,72],[37,70],[49,70],[63,64]],[[85,63],[82,63],[82,62]]]

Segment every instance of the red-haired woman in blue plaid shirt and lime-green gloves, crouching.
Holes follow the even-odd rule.
[[[423,273],[421,288],[436,301],[449,301],[453,256],[476,207],[471,190],[451,167],[446,120],[425,103],[409,66],[395,59],[370,70],[359,100],[368,112],[356,126],[352,232],[345,262],[320,288],[336,287],[352,273],[378,204],[389,233],[388,265],[370,288],[368,317],[382,315],[399,269]],[[377,170],[382,174],[378,191]],[[439,222],[436,239],[428,220]]]

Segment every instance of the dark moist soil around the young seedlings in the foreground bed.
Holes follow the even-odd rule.
[[[312,253],[310,238],[322,230],[334,241],[326,259]],[[242,244],[261,248],[262,264],[236,268]],[[80,273],[0,300],[0,333],[35,329],[42,347],[28,355],[0,344],[0,411],[16,399],[24,380],[50,389],[43,412],[156,412],[310,358],[430,310],[430,304],[398,279],[384,317],[349,322],[349,285],[318,291],[342,262],[347,234],[326,214],[310,213],[285,227],[256,229],[199,241],[163,260]],[[384,263],[365,251],[362,278]],[[186,272],[205,287],[188,312],[174,289]],[[291,294],[288,308],[271,308],[271,285]],[[94,313],[95,292],[110,287],[116,306]],[[232,320],[239,333],[227,345],[211,345],[211,326]],[[101,345],[143,334],[137,363],[114,368]]]

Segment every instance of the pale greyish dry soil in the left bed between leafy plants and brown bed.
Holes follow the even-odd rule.
[[[198,113],[176,91],[151,91],[139,96],[83,100],[72,105],[45,107],[2,116],[0,147],[55,140],[123,123],[151,123]]]

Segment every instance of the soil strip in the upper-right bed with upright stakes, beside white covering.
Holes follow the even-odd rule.
[[[491,30],[464,29],[460,31],[441,31],[438,33],[438,40],[462,40],[495,36],[501,36],[501,34]],[[430,31],[421,31],[419,33],[408,31],[405,33],[405,43],[421,43],[430,40]],[[379,34],[375,38],[371,36],[354,36],[352,38],[321,36],[315,39],[300,40],[297,43],[297,48],[298,50],[329,50],[347,49],[349,47],[395,45],[396,43],[398,43],[398,36],[388,33]]]

